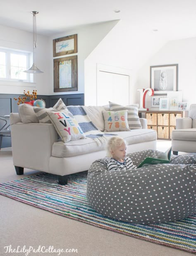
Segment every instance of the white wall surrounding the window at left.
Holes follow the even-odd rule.
[[[0,25],[0,46],[17,50],[33,51],[33,33]],[[36,89],[40,95],[49,94],[49,45],[48,37],[37,35],[38,48],[35,64],[44,73],[34,74],[35,83],[0,81],[0,93],[21,94]]]

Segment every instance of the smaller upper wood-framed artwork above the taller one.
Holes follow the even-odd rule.
[[[53,57],[77,53],[77,34],[53,39]]]

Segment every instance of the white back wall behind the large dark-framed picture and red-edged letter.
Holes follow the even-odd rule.
[[[189,105],[196,103],[196,38],[166,43],[139,69],[136,75],[135,90],[150,87],[150,66],[167,64],[178,64],[178,90],[182,91],[182,100],[188,102]],[[139,101],[139,94],[137,100]],[[146,105],[150,106],[149,98],[146,100]]]

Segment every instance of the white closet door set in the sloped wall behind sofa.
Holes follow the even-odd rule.
[[[97,105],[108,101],[129,105],[129,76],[105,71],[97,73]]]

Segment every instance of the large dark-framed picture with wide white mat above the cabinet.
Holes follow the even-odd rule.
[[[150,67],[150,87],[154,93],[178,90],[178,64]]]

